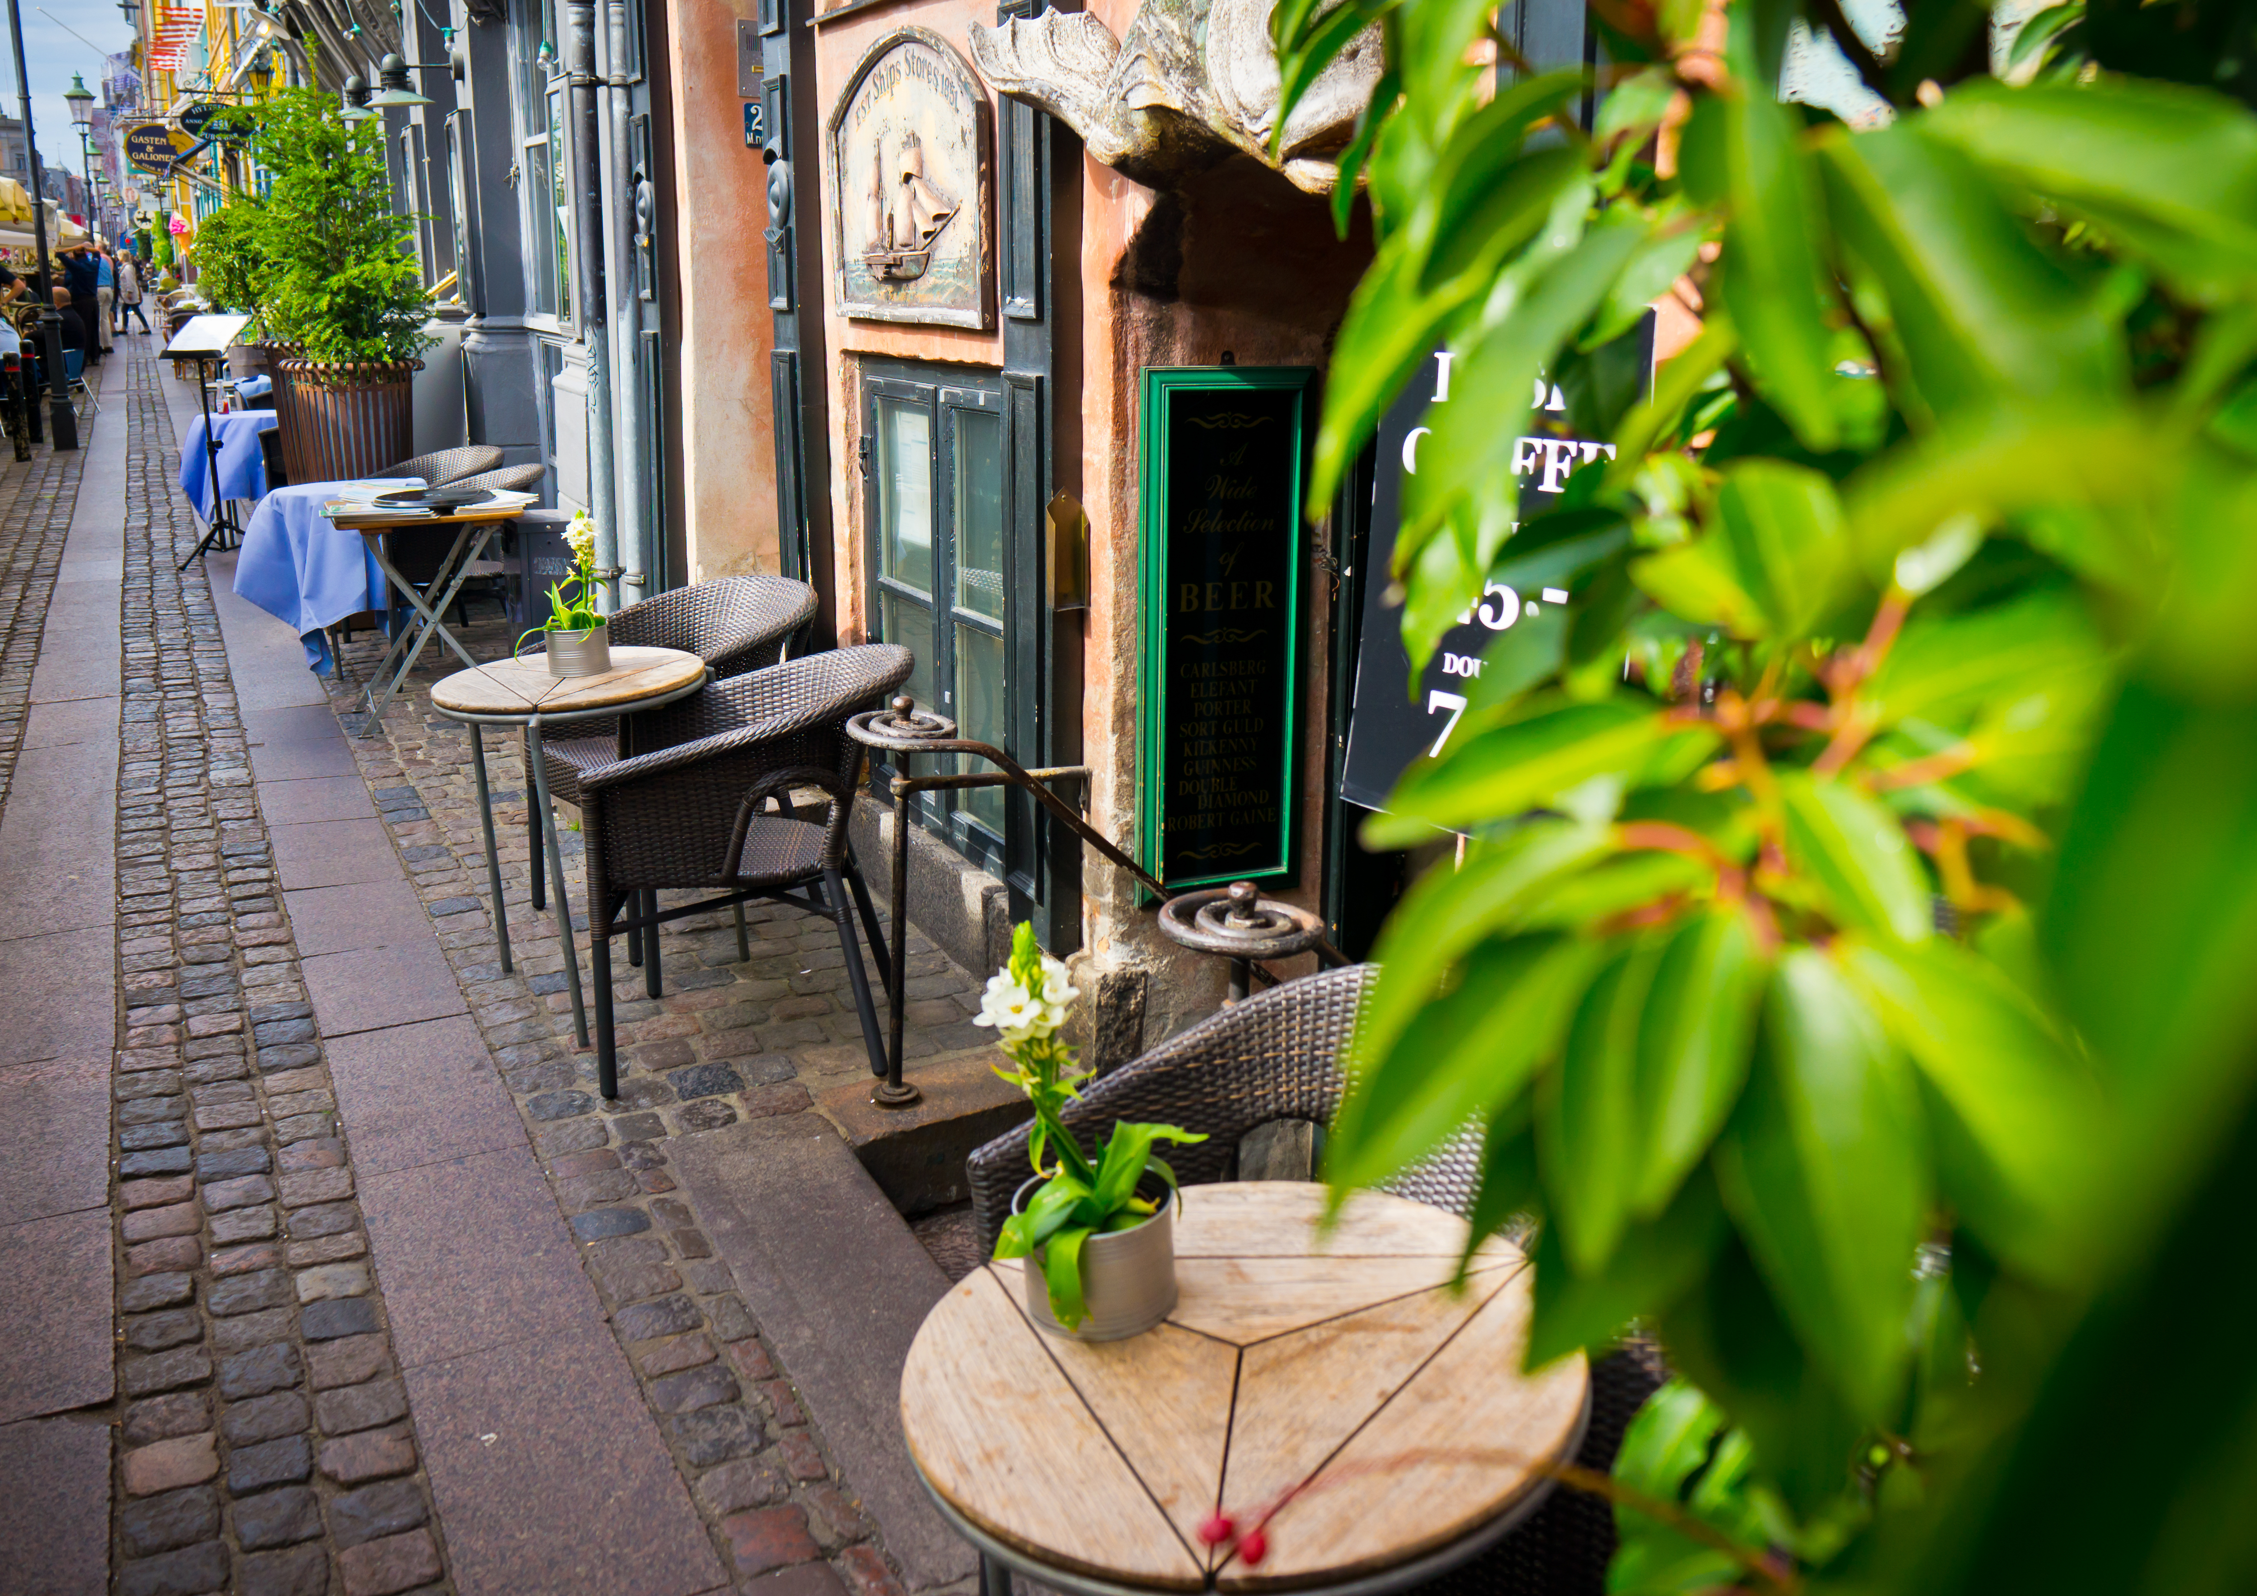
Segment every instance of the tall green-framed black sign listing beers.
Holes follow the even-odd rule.
[[[1293,862],[1307,366],[1144,370],[1140,844],[1169,887]]]

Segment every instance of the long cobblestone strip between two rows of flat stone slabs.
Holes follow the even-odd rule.
[[[131,424],[115,1589],[451,1589],[210,585],[172,569],[196,526],[156,361],[108,386]]]

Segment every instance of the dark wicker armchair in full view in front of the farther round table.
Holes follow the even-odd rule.
[[[846,736],[846,718],[882,704],[910,679],[910,650],[898,643],[862,643],[711,682],[634,718],[634,745],[648,752],[578,772],[596,1075],[605,1097],[618,1095],[612,937],[655,935],[659,921],[749,898],[792,903],[837,926],[869,1068],[885,1075],[878,1011],[853,930],[860,907],[871,948],[885,946],[869,887],[846,849],[862,768],[862,745]],[[792,808],[792,792],[806,788],[828,799],[822,822]],[[722,896],[661,912],[661,889]],[[657,957],[646,962],[657,968]]]

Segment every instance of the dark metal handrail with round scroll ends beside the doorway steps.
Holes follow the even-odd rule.
[[[907,1108],[921,1093],[901,1079],[901,1034],[903,993],[910,977],[910,810],[914,792],[957,792],[964,788],[1020,788],[1047,808],[1068,831],[1113,865],[1135,876],[1138,885],[1156,898],[1167,898],[1167,887],[1149,869],[1122,853],[1108,838],[1086,822],[1072,804],[1050,790],[1052,781],[1088,781],[1088,765],[1052,765],[1027,770],[1000,747],[957,736],[957,722],[946,716],[930,716],[916,709],[910,698],[896,698],[889,709],[869,709],[846,722],[846,736],[862,747],[882,749],[896,756],[898,774],[892,779],[894,795],[894,923],[887,950],[892,973],[887,993],[885,1079],[871,1093],[871,1102],[882,1108]],[[943,777],[912,777],[912,754],[973,754],[995,765],[993,772],[957,772]],[[1271,898],[1257,898],[1253,883],[1187,892],[1169,898],[1160,907],[1160,930],[1174,941],[1201,953],[1230,957],[1230,998],[1246,996],[1253,959],[1282,959],[1296,953],[1316,950],[1327,964],[1347,964],[1338,948],[1325,941],[1323,923],[1307,910]]]

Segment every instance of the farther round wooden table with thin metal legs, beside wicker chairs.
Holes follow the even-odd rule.
[[[557,853],[557,822],[548,808],[548,763],[542,758],[542,727],[573,720],[600,720],[636,709],[657,709],[688,698],[706,684],[706,661],[682,648],[614,648],[612,668],[603,675],[551,675],[548,661],[497,659],[472,670],[456,670],[431,684],[431,709],[469,727],[469,765],[478,777],[478,824],[485,826],[485,880],[494,894],[494,939],[501,944],[501,968],[510,959],[510,914],[501,903],[501,856],[494,849],[494,804],[485,786],[485,727],[524,727],[526,774],[533,779],[533,804],[542,817],[542,844],[548,853],[548,878],[555,892],[557,937],[564,941],[564,977],[571,991],[573,1036],[587,1047],[587,996],[580,991],[580,953],[571,941],[571,896],[564,892],[564,858]],[[589,928],[589,935],[596,935]],[[609,1095],[609,1093],[605,1093]]]

